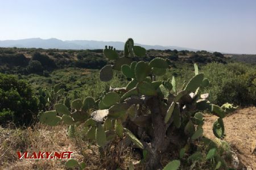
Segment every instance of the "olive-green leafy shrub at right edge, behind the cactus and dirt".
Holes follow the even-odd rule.
[[[210,101],[222,105],[256,105],[256,67],[245,63],[209,63],[202,67],[209,79]]]

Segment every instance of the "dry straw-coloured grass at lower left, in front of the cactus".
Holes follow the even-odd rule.
[[[0,127],[0,169],[65,169],[67,160],[19,160],[17,151],[73,151],[72,159],[86,163],[86,169],[126,169],[140,159],[131,148],[111,143],[101,154],[96,145],[82,138],[71,139],[67,126],[49,127],[37,124],[34,128],[3,129]]]

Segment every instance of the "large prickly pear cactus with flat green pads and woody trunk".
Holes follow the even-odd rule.
[[[181,161],[191,152],[191,146],[203,137],[202,111],[206,109],[219,117],[213,124],[214,135],[217,138],[225,137],[222,118],[226,115],[226,108],[211,104],[209,94],[200,95],[201,88],[208,86],[209,80],[199,73],[196,64],[195,76],[177,92],[174,77],[167,81],[155,80],[156,76],[164,75],[170,68],[166,59],[133,61],[134,56],[146,55],[146,50],[135,46],[133,39],[126,41],[123,57],[119,57],[111,46],[106,46],[103,53],[114,64],[100,70],[100,79],[107,82],[112,79],[113,70],[119,70],[130,79],[127,86],[111,88],[97,101],[86,97],[84,101],[72,101],[70,106],[58,103],[55,111],[42,114],[42,122],[52,126],[63,122],[69,125],[71,136],[75,125],[83,123],[89,129],[87,137],[100,147],[117,137],[121,142],[129,140],[133,147],[147,151],[147,169],[159,168],[160,155],[170,148],[180,148]],[[221,159],[212,152],[209,150],[207,159]],[[188,159],[195,161],[200,156],[201,153],[197,151]],[[179,165],[180,161],[175,160],[164,169],[178,168]],[[224,163],[221,160],[215,166],[224,167]]]

